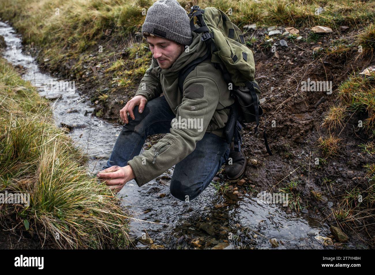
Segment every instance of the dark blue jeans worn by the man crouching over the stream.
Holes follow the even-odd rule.
[[[148,135],[169,133],[175,118],[164,96],[148,101],[141,114],[135,106],[134,116],[134,120],[129,117],[129,123],[118,135],[106,168],[126,166],[128,160],[139,155]],[[229,147],[224,138],[206,132],[195,150],[175,165],[170,185],[172,196],[181,201],[186,200],[186,195],[189,201],[196,198],[228,160]]]

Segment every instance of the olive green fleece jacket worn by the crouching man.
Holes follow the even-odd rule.
[[[187,75],[183,91],[178,89],[181,68],[207,52],[207,45],[200,39],[202,34],[192,32],[192,36],[188,51],[183,51],[170,68],[160,68],[156,59],[152,58],[150,68],[146,70],[136,92],[136,95],[146,97],[147,101],[163,93],[176,114],[168,134],[142,155],[127,162],[138,186],[158,177],[193,152],[205,132],[223,137],[229,114],[229,109],[224,108],[233,104],[234,100],[220,70],[206,59]]]

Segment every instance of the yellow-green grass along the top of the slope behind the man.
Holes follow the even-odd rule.
[[[247,0],[204,0],[179,3],[187,11],[192,4],[199,4],[202,8],[217,7],[227,14],[231,9],[229,16],[241,29],[249,22],[266,27],[324,25],[337,29],[346,24],[357,28],[369,25],[375,18],[372,1],[263,0],[256,3]],[[49,67],[58,69],[71,59],[80,59],[82,52],[98,52],[101,45],[104,45],[102,55],[109,56],[105,40],[113,39],[111,44],[113,41],[125,43],[130,34],[141,30],[145,19],[142,9],[145,11],[152,4],[152,0],[4,0],[0,3],[0,16],[12,21],[24,35],[26,43],[39,47],[40,60],[48,58]],[[320,6],[326,11],[315,15],[315,9]],[[112,30],[110,36],[105,36],[107,29]],[[366,48],[374,40],[364,36],[362,42]],[[149,58],[147,61],[149,63]],[[75,74],[80,73],[80,62],[74,65],[73,70]]]

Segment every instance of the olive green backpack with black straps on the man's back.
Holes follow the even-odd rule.
[[[194,17],[199,28],[195,27]],[[235,99],[235,104],[229,107],[231,115],[226,126],[226,133],[229,136],[228,143],[234,136],[235,149],[238,151],[242,144],[240,137],[242,124],[256,122],[255,134],[259,125],[259,116],[264,117],[259,103],[261,95],[259,83],[255,80],[253,53],[246,46],[242,31],[222,10],[215,7],[200,9],[199,6],[192,6],[189,18],[191,30],[195,33],[203,33],[201,40],[207,43],[208,51],[204,56],[180,70],[179,89],[182,91],[186,76],[196,65],[205,59],[211,59],[215,68],[222,71],[228,87],[232,87],[231,95]],[[266,119],[264,121],[266,122]],[[263,137],[267,152],[272,155],[267,142],[266,127],[264,127]]]

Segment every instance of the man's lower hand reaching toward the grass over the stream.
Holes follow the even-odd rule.
[[[124,167],[111,166],[110,168],[99,171],[96,175],[99,179],[104,180],[111,190],[118,192],[124,187],[125,183],[135,178],[130,165]]]

